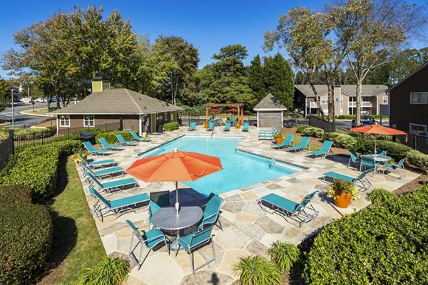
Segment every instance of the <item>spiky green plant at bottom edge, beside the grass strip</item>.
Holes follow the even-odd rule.
[[[95,268],[84,269],[78,285],[120,285],[128,278],[129,266],[124,259],[104,257]]]

